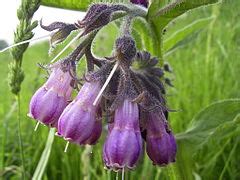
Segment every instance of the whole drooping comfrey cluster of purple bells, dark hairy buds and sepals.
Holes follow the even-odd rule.
[[[128,15],[122,34],[115,41],[113,55],[97,58],[91,51],[92,42],[117,13]],[[57,30],[52,34],[52,44],[62,42],[78,29],[82,30],[78,37],[84,40],[69,56],[45,67],[50,76],[30,102],[30,117],[55,127],[58,136],[79,145],[97,143],[103,121],[107,121],[103,162],[113,170],[136,167],[144,147],[156,165],[167,165],[176,157],[162,83],[164,71],[169,68],[156,67],[156,57],[136,48],[131,36],[135,16],[136,12],[131,14],[131,8],[122,4],[94,4],[76,24],[42,25],[45,30]],[[78,78],[77,64],[83,56],[88,72]],[[78,95],[71,100],[74,90]]]

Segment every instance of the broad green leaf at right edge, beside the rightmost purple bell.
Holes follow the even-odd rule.
[[[203,109],[192,121],[186,132],[178,134],[179,141],[185,141],[196,147],[207,142],[211,135],[216,138],[228,135],[239,124],[240,99],[225,100]]]

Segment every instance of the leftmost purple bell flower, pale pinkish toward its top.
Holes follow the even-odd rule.
[[[33,95],[28,116],[56,127],[58,118],[71,98],[71,82],[72,77],[68,71],[60,66],[54,67],[46,83]]]

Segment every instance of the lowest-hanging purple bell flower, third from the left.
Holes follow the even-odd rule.
[[[139,111],[136,103],[124,100],[115,111],[114,123],[103,148],[103,160],[113,170],[132,169],[142,154]]]

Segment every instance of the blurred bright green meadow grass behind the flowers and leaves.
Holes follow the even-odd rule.
[[[168,88],[168,106],[179,110],[170,114],[175,133],[185,130],[194,115],[212,102],[240,98],[239,7],[239,1],[226,1],[189,12],[169,25],[165,38],[196,19],[216,16],[193,40],[166,57],[174,71],[168,76],[174,79],[175,86]],[[94,52],[108,55],[116,35],[116,29],[102,33],[96,41]],[[98,47],[98,43],[103,45]],[[23,61],[25,80],[21,90],[21,129],[26,173],[29,178],[37,166],[49,131],[47,127],[41,126],[34,132],[35,121],[26,116],[32,94],[44,82],[45,72],[36,64],[51,60],[47,52],[47,42],[36,44],[27,50]],[[0,177],[19,179],[21,159],[17,140],[17,112],[15,98],[7,85],[7,66],[10,61],[8,53],[0,54]],[[115,179],[116,173],[103,169],[101,148],[105,136],[106,132],[103,133],[100,143],[91,148],[71,144],[67,153],[63,152],[65,141],[56,137],[44,179]],[[145,156],[136,171],[125,174],[125,179],[187,179],[189,175],[186,174],[192,173],[202,179],[240,178],[240,167],[237,166],[240,162],[239,138],[231,138],[220,144],[209,144],[196,152],[194,159],[191,158],[188,147],[183,149],[184,151],[178,153],[177,163],[168,168],[152,166]],[[216,160],[208,161],[206,152],[207,157],[217,155]],[[230,153],[233,155],[229,159]],[[220,178],[226,163],[227,170]],[[119,178],[120,175],[119,173]]]

